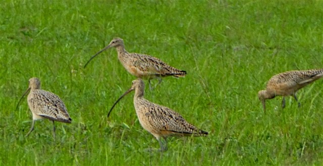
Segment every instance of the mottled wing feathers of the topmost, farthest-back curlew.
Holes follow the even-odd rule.
[[[132,56],[137,58],[133,66],[146,74],[156,77],[185,77],[186,75],[186,71],[171,67],[158,58],[139,53],[132,53]]]

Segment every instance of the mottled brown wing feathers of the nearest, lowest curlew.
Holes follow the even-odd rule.
[[[153,104],[153,103],[151,103]],[[204,135],[207,132],[197,129],[189,124],[185,119],[172,109],[153,104],[149,107],[149,112],[145,114],[148,122],[161,133],[168,135]]]

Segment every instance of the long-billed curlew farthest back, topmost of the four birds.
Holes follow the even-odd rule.
[[[146,54],[127,52],[121,38],[114,38],[109,45],[95,53],[85,64],[84,68],[94,57],[110,47],[117,48],[118,59],[130,74],[137,78],[148,79],[150,89],[150,79],[158,78],[159,84],[161,82],[161,77],[185,77],[186,75],[186,71],[173,68],[155,57]]]

